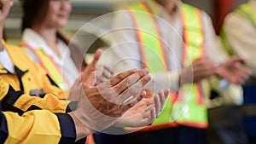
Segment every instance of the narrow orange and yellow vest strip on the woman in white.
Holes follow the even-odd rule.
[[[61,89],[65,90],[70,88],[67,80],[62,76],[59,66],[55,64],[55,61],[51,57],[44,53],[43,49],[32,49],[28,43],[21,43],[20,46],[33,51],[40,62],[40,66],[44,68],[44,70],[49,74],[49,77],[52,78]]]

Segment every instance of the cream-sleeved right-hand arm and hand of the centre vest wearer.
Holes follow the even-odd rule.
[[[203,13],[202,20],[205,32],[206,57],[217,65],[216,74],[231,84],[243,84],[249,78],[249,75],[251,75],[251,71],[241,65],[243,63],[241,58],[236,56],[230,57],[225,52],[213,31],[212,20],[206,13]]]

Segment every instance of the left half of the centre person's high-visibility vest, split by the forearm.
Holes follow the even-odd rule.
[[[145,2],[138,3],[127,9],[136,27],[143,67],[148,67],[151,73],[170,71],[170,65],[168,64],[166,55],[167,52],[164,43],[161,41],[155,16],[152,14],[148,4]],[[176,126],[176,124],[170,123],[171,112],[172,96],[169,96],[166,100],[165,108],[160,113],[160,118],[155,120],[154,126],[147,127],[143,130],[156,130]]]

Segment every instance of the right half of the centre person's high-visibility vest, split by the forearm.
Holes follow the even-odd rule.
[[[204,56],[204,37],[201,11],[187,4],[181,5],[183,21],[183,67]],[[181,99],[181,100],[179,100]],[[207,108],[203,103],[201,84],[183,84],[172,110],[172,119],[177,124],[206,128]]]

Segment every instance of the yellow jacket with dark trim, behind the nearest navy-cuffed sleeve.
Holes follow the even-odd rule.
[[[0,77],[15,90],[21,90],[26,94],[17,95],[11,100],[14,107],[23,112],[33,109],[32,107],[51,112],[66,112],[70,101],[65,101],[66,96],[63,91],[50,82],[44,69],[29,58],[25,49],[9,45],[4,41],[2,43],[15,66],[15,73],[8,72],[0,63]],[[1,92],[0,101],[3,101],[4,97]]]

